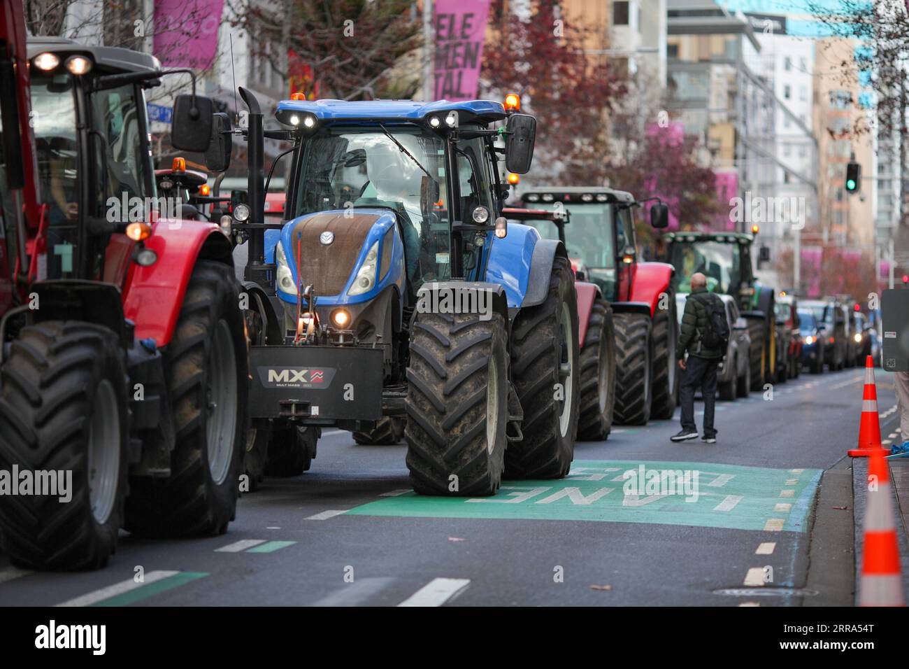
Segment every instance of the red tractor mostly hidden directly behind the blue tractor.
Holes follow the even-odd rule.
[[[557,238],[565,244],[568,214],[545,209],[503,208],[505,218],[536,228],[544,238]],[[578,343],[581,346],[581,397],[578,402],[577,438],[603,441],[612,431],[615,406],[615,328],[613,309],[603,299],[603,290],[584,281],[583,269],[572,260],[578,280]]]

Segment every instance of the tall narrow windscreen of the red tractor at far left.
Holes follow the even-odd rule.
[[[47,209],[47,279],[75,277],[79,159],[72,76],[32,77],[32,127],[41,200]],[[39,279],[44,272],[39,268]]]

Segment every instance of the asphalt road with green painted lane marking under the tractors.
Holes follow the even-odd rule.
[[[886,437],[898,426],[887,412],[894,393],[876,372]],[[124,533],[93,573],[20,573],[0,556],[0,604],[850,604],[848,583],[799,589],[809,581],[818,481],[837,463],[842,470],[854,446],[863,376],[803,374],[774,387],[772,400],[753,392],[718,402],[714,445],[670,442],[677,421],[616,427],[608,441],[577,444],[564,481],[505,481],[483,500],[415,496],[405,446],[357,446],[327,431],[312,470],[245,494],[225,535]],[[624,486],[637,479],[622,477],[640,465],[644,483],[649,471],[691,478],[635,495]],[[843,529],[851,512],[839,522],[833,508],[824,506],[819,528]],[[817,545],[848,556],[850,537],[834,532]]]

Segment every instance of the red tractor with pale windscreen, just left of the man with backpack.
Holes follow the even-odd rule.
[[[562,218],[570,214],[571,223],[564,228],[568,255],[612,307],[615,422],[644,425],[651,418],[671,419],[678,397],[674,269],[638,260],[634,208],[641,203],[611,188],[532,188],[521,199],[525,206]],[[663,203],[651,208],[651,225],[668,225]]]

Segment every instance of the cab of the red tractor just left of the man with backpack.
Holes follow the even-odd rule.
[[[631,193],[610,188],[534,188],[522,195],[524,206],[554,212],[571,225],[564,228],[568,256],[587,270],[586,279],[603,291],[604,299],[628,300],[637,260]],[[654,208],[654,211],[657,210]],[[559,238],[551,223],[531,222],[544,238]]]

